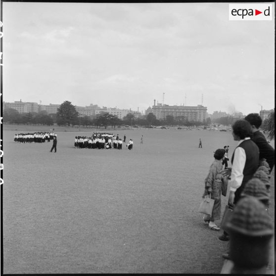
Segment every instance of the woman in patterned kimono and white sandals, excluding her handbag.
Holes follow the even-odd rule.
[[[219,220],[221,217],[221,193],[222,185],[227,180],[222,175],[222,161],[225,156],[225,149],[219,148],[215,151],[214,157],[215,160],[212,163],[209,173],[205,178],[205,190],[202,197],[210,195],[214,199],[214,207],[212,211],[212,216],[205,215],[203,221],[209,224],[211,230],[219,231],[220,228],[215,224],[215,220]]]

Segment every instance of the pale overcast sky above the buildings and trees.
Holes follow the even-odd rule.
[[[275,105],[275,21],[230,21],[228,3],[3,2],[3,34],[6,102]]]

